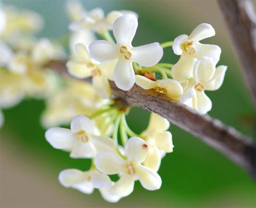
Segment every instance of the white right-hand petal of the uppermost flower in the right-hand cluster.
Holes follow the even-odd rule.
[[[214,60],[214,63],[217,64],[221,56],[221,48],[218,45],[211,44],[194,44],[195,48],[195,58],[200,59],[202,57],[209,57]]]

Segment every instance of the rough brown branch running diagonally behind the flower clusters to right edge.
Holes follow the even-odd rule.
[[[48,66],[62,74],[67,73],[65,62],[52,61]],[[201,116],[181,102],[155,90],[144,90],[134,85],[130,91],[122,91],[116,87],[114,82],[110,84],[113,94],[121,97],[127,105],[138,106],[161,115],[222,152],[255,177],[256,148],[249,137],[208,115]]]

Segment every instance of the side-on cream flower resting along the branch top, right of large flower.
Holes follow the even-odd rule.
[[[181,84],[178,81],[169,78],[153,81],[145,76],[135,75],[135,83],[145,90],[155,89],[176,100],[179,100],[183,94]]]

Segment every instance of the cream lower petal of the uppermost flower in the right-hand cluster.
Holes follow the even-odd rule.
[[[172,67],[171,74],[173,79],[183,83],[193,76],[193,67],[197,59],[193,56],[182,54],[179,61]]]

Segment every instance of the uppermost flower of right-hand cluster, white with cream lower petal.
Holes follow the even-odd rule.
[[[193,76],[193,67],[201,57],[212,58],[218,63],[221,48],[217,45],[202,44],[199,41],[215,35],[215,30],[210,24],[202,23],[189,35],[180,35],[175,38],[173,50],[176,55],[181,55],[180,60],[172,67],[172,76],[183,83]]]

